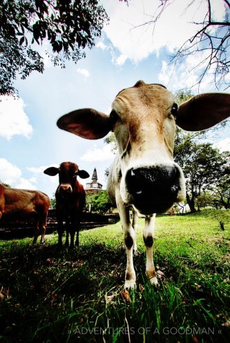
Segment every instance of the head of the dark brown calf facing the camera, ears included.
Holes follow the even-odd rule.
[[[62,195],[72,193],[77,176],[82,179],[89,177],[85,170],[79,170],[77,164],[72,162],[62,162],[59,168],[50,167],[44,170],[44,173],[50,176],[59,174],[59,186],[57,192]]]

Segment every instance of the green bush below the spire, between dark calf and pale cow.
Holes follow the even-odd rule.
[[[93,213],[107,213],[115,205],[111,202],[111,199],[108,197],[107,190],[102,190],[101,192],[94,194],[94,193],[86,193],[86,210],[90,210]]]

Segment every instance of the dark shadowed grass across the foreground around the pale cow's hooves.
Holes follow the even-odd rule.
[[[11,244],[0,251],[0,340],[11,342],[228,342],[218,297],[193,295],[172,261],[153,288],[145,254],[135,256],[137,290],[124,292],[124,248]],[[210,295],[209,295],[210,296]],[[211,301],[212,300],[212,301]]]

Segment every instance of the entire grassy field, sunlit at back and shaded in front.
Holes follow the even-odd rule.
[[[157,217],[159,288],[144,275],[139,224],[129,293],[120,223],[82,231],[73,250],[60,251],[57,234],[1,241],[0,341],[230,342],[230,210]]]

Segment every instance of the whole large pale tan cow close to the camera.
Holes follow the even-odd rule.
[[[161,84],[145,84],[120,91],[110,115],[91,108],[74,110],[57,126],[86,139],[115,134],[117,156],[108,177],[108,193],[115,199],[126,246],[125,288],[135,288],[133,251],[136,249],[137,213],[145,216],[146,275],[157,285],[153,264],[155,213],[165,213],[185,197],[182,169],[173,160],[176,125],[184,130],[210,128],[230,115],[230,95],[206,93],[178,106]],[[129,209],[135,215],[133,223]]]

